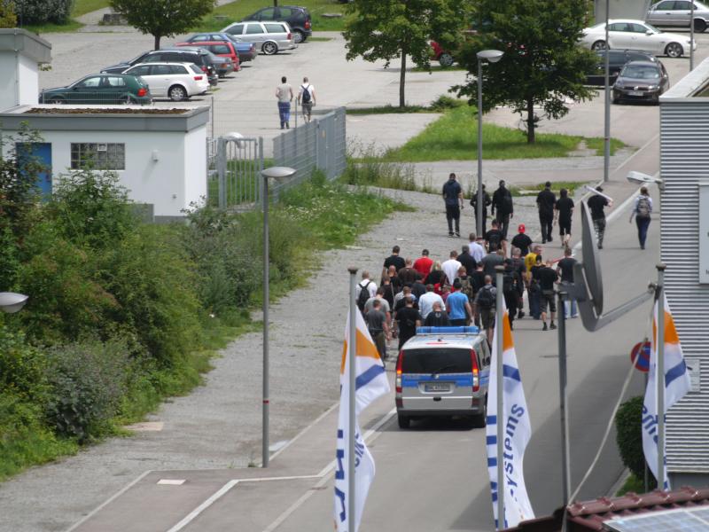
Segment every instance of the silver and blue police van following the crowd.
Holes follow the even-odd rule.
[[[427,416],[471,417],[485,426],[490,350],[478,327],[418,327],[396,361],[401,428]]]

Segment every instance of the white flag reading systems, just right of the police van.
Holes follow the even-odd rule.
[[[495,528],[516,527],[520,521],[534,519],[534,511],[526,494],[523,460],[526,444],[532,435],[532,425],[526,408],[525,390],[519,375],[514,340],[507,309],[503,317],[503,416],[497,416],[497,327],[493,338],[490,361],[490,385],[487,389],[487,472],[493,496]],[[497,495],[497,423],[503,424],[504,521],[498,526]]]

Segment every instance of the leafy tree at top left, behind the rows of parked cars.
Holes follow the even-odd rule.
[[[111,0],[111,7],[129,24],[144,34],[155,37],[155,50],[160,38],[172,37],[190,30],[214,9],[215,0]]]

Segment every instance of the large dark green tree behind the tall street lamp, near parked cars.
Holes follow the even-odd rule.
[[[480,0],[485,31],[464,46],[461,62],[477,76],[478,51],[504,51],[499,63],[485,66],[483,108],[505,104],[515,113],[526,113],[528,143],[534,143],[541,120],[534,106],[556,120],[569,112],[567,98],[578,102],[596,93],[584,85],[596,59],[578,45],[587,7],[579,0]],[[477,79],[456,89],[471,101],[478,98]]]

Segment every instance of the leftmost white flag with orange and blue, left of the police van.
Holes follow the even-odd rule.
[[[386,379],[384,364],[379,358],[377,346],[371,340],[370,332],[364,325],[360,312],[355,312],[357,319],[357,352],[355,357],[356,370],[356,408],[355,417],[359,416],[367,406],[380,395],[389,392],[389,381]],[[362,439],[359,422],[355,419],[354,433],[354,479],[356,492],[354,494],[354,519],[348,512],[348,460],[349,448],[349,364],[352,359],[349,346],[349,317],[345,328],[345,345],[342,349],[342,364],[339,370],[339,421],[337,443],[337,467],[335,472],[335,526],[338,532],[357,532],[364,502],[374,480],[374,458]]]

